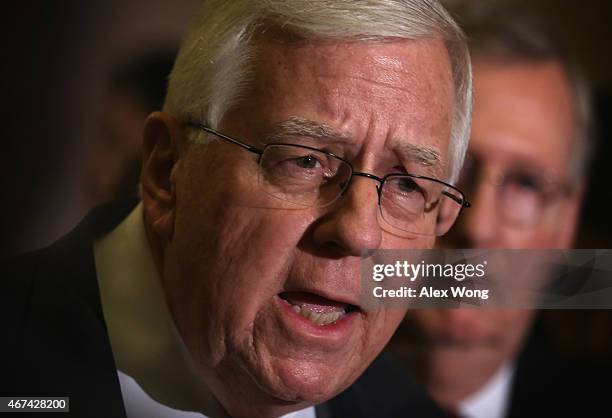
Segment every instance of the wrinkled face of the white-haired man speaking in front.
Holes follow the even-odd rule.
[[[402,144],[447,161],[453,86],[443,43],[287,44],[262,40],[245,100],[218,129],[263,146],[292,117],[326,124],[341,141],[292,141],[382,176],[411,171]],[[283,208],[263,193],[257,157],[222,141],[188,145],[173,172],[176,208],[164,286],[179,330],[224,404],[228,388],[260,402],[319,402],[348,386],[403,312],[357,305],[360,254],[430,248],[430,236],[381,229],[376,183],[353,180],[324,208]],[[433,167],[444,177],[447,167]],[[345,312],[320,326],[296,313]],[[225,402],[224,402],[225,401]],[[234,400],[235,401],[235,400]]]

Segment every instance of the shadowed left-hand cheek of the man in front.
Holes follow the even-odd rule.
[[[208,364],[222,359],[227,339],[235,344],[251,338],[311,221],[305,211],[256,208],[245,204],[248,199],[222,197],[177,214],[167,274],[181,334],[194,357]]]

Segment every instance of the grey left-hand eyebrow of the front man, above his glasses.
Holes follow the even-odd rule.
[[[291,116],[278,124],[266,139],[268,142],[283,142],[296,137],[325,140],[326,142],[346,142],[351,138],[349,134],[339,132],[326,123]]]

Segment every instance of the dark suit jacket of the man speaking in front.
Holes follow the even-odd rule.
[[[136,203],[98,208],[49,248],[3,263],[0,396],[69,396],[70,416],[125,417],[92,243],[117,226]],[[317,407],[317,414],[319,418],[443,416],[386,355],[349,389]]]

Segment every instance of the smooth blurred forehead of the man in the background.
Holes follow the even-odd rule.
[[[574,150],[569,80],[556,61],[475,61],[470,150],[491,163],[524,162],[563,175]]]

